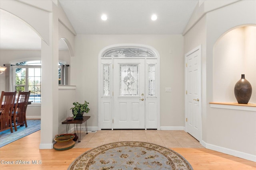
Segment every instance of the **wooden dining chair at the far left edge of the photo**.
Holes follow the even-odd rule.
[[[16,98],[15,92],[4,92],[2,91],[0,97],[0,132],[5,131],[7,129],[11,129],[11,133],[13,133],[12,129],[12,110],[14,108]]]

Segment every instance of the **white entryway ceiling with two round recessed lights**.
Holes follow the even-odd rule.
[[[77,34],[181,34],[198,0],[59,0]],[[108,20],[100,19],[102,14]],[[151,20],[156,14],[158,19]]]

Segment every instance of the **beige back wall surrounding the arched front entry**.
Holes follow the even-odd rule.
[[[90,103],[89,127],[98,126],[98,55],[114,44],[144,44],[160,54],[160,127],[184,127],[184,59],[182,35],[77,35],[71,84],[78,101]],[[169,52],[172,51],[172,54]],[[171,87],[172,92],[165,92]]]

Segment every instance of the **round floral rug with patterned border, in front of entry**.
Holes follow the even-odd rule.
[[[101,145],[80,155],[68,170],[193,170],[177,152],[144,142]]]

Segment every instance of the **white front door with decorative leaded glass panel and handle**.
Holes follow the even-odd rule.
[[[145,129],[145,59],[113,63],[113,129]]]

